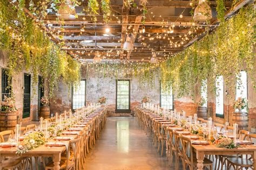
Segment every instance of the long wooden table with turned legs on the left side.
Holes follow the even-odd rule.
[[[100,111],[101,114],[105,114],[106,109]],[[97,110],[93,113],[97,113]],[[65,135],[62,135],[65,136]],[[68,135],[71,136],[71,135]],[[77,135],[73,136],[76,137]],[[63,143],[68,143],[69,141],[62,141]],[[45,145],[39,146],[33,150],[28,151],[22,155],[16,154],[17,148],[16,147],[0,147],[0,163],[4,157],[52,157],[52,161],[54,163],[54,170],[60,169],[60,157],[61,154],[66,151],[65,146],[58,146],[58,147],[48,147]],[[38,167],[36,167],[38,169]]]

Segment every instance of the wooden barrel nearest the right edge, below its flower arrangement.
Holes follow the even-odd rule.
[[[248,114],[246,112],[233,112],[232,122],[238,124],[238,130],[247,130]]]

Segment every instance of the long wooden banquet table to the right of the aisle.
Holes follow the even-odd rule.
[[[139,111],[142,111],[143,114],[152,114],[149,111],[146,111],[144,109],[139,109]],[[156,117],[159,117],[158,115],[154,115]],[[153,118],[154,116],[150,116]],[[166,125],[163,123],[163,127],[168,127],[169,125]],[[171,127],[169,127],[171,128]],[[174,128],[174,127],[172,127]],[[210,145],[193,145],[193,150],[196,152],[196,157],[197,157],[197,168],[199,170],[203,170],[204,164],[204,157],[205,155],[234,155],[234,154],[249,154],[252,155],[253,159],[253,167],[254,169],[256,168],[256,145],[241,145],[241,147],[238,148],[232,148],[232,149],[227,149],[227,148],[221,148],[217,147],[214,144]]]

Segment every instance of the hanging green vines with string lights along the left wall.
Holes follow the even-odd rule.
[[[38,74],[49,81],[50,96],[56,91],[58,81],[71,86],[80,80],[80,64],[50,41],[34,20],[25,16],[24,1],[15,8],[9,1],[0,0],[0,49],[8,52],[9,77],[23,67],[32,72],[36,87]]]

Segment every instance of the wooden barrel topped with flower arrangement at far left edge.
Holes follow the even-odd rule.
[[[0,131],[14,130],[17,124],[17,108],[15,107],[14,98],[4,96],[1,105]]]

